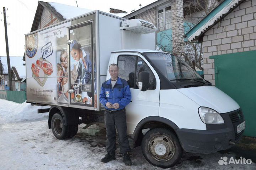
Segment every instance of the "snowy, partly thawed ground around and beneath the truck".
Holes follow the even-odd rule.
[[[17,104],[0,100],[1,170],[163,170],[149,164],[143,157],[140,147],[132,149],[132,166],[124,165],[119,149],[116,152],[116,160],[102,163],[100,159],[106,154],[105,128],[93,125],[84,130],[83,125],[79,125],[78,134],[73,138],[58,140],[53,136],[52,130],[48,129],[47,114],[37,114],[38,108],[40,107],[26,103]],[[134,142],[130,139],[129,142],[132,147]],[[221,157],[238,158],[240,156],[244,155],[233,153],[230,150],[214,154],[183,153],[181,161],[169,169],[256,169],[255,163],[251,165],[218,164]]]

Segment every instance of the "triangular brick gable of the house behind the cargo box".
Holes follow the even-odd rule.
[[[48,27],[57,22],[59,22],[59,20],[56,17],[54,17],[47,9],[44,8],[41,16],[41,21],[38,24],[37,29]]]

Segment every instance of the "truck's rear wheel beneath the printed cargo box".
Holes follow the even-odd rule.
[[[53,135],[57,139],[65,139],[68,136],[68,126],[64,125],[63,117],[59,113],[55,113],[51,121]]]

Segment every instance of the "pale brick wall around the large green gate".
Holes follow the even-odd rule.
[[[203,37],[204,78],[215,85],[212,55],[256,50],[256,0],[246,0]]]

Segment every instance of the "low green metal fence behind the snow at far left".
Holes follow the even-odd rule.
[[[0,98],[16,103],[23,103],[26,100],[25,91],[0,91]]]

